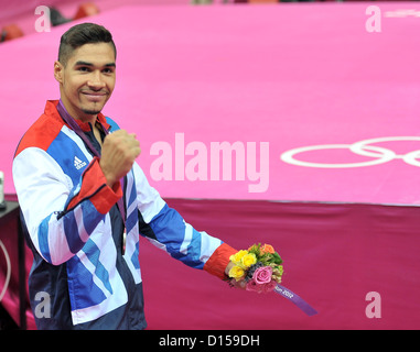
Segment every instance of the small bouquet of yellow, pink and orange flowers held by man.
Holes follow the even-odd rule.
[[[281,283],[283,261],[270,244],[252,244],[230,255],[230,261],[235,264],[229,271],[231,286],[245,284],[247,290],[269,293]]]

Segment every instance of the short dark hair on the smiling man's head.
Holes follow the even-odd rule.
[[[58,62],[67,64],[72,53],[85,44],[109,43],[117,58],[117,47],[111,33],[103,25],[96,23],[80,23],[72,26],[62,35],[58,48]]]

